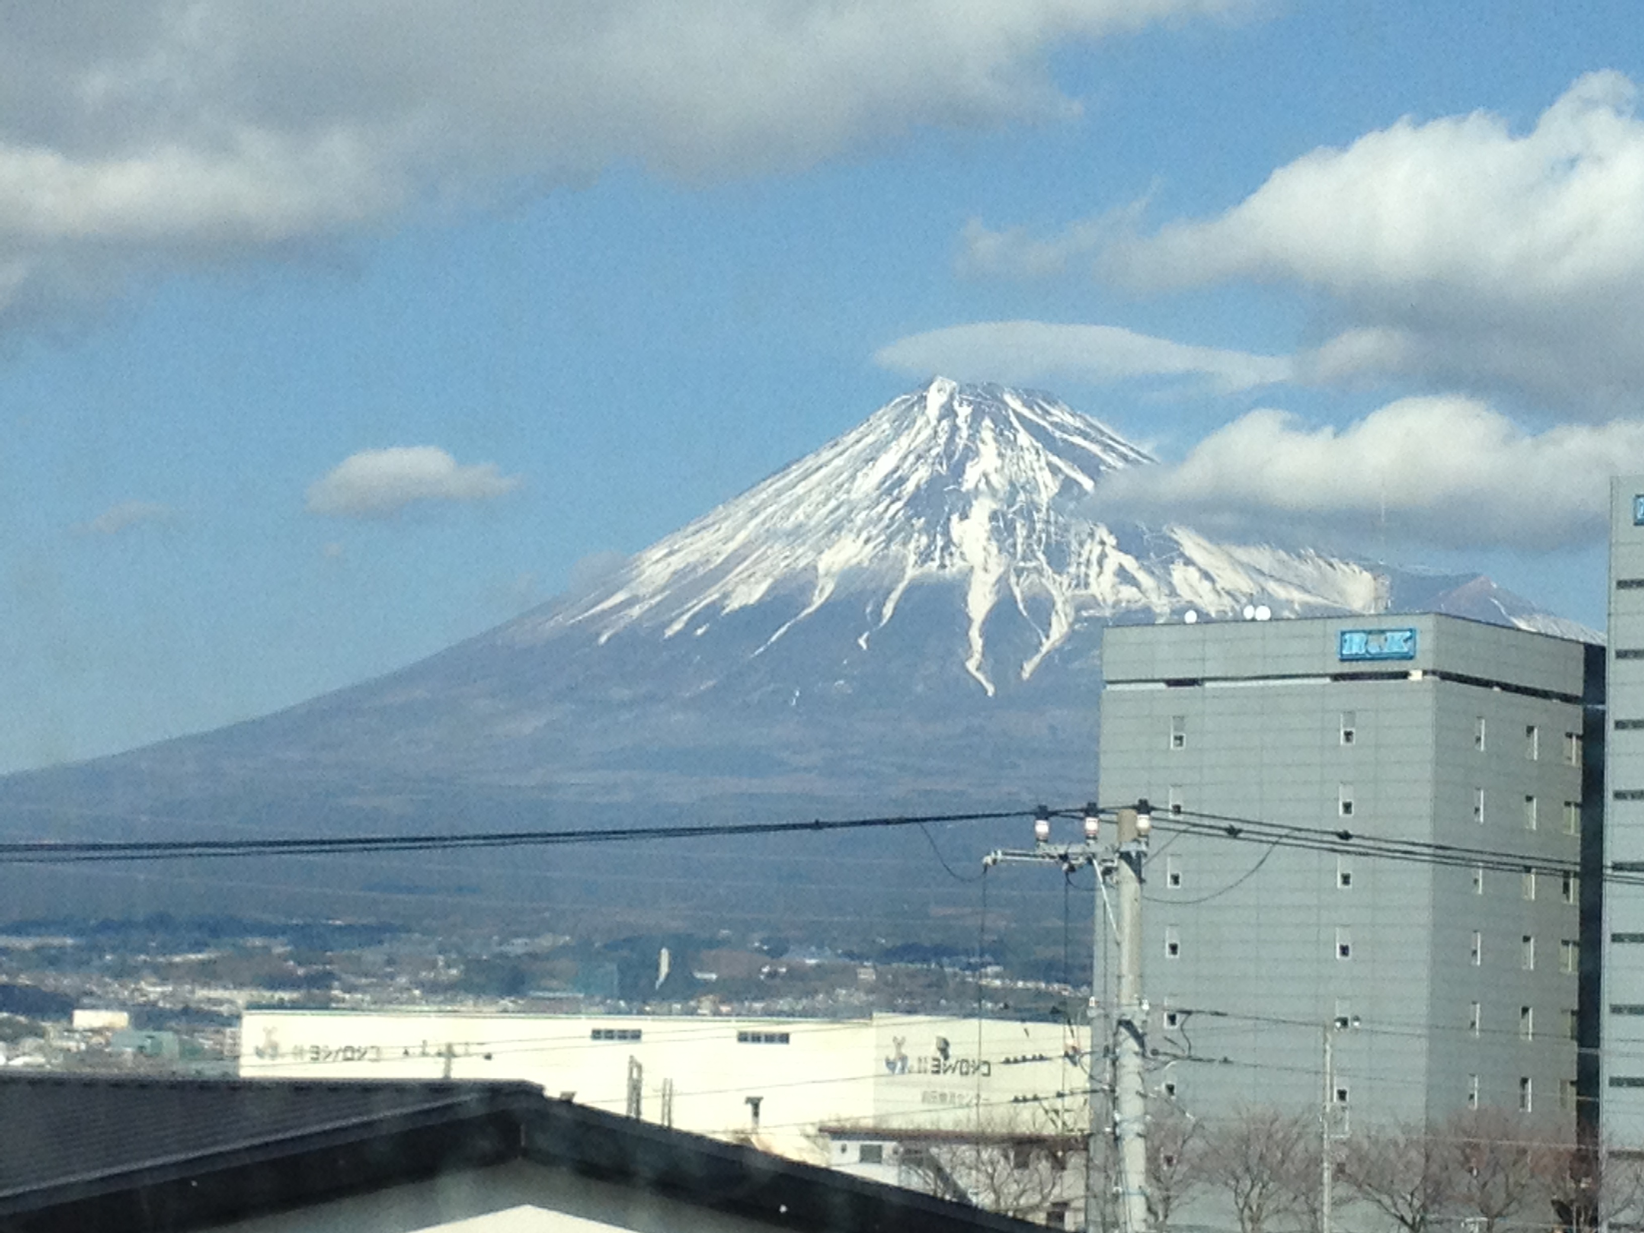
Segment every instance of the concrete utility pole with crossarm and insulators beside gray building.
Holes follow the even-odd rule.
[[[1148,853],[1152,807],[1138,801],[1134,809],[1118,810],[1118,847],[1103,852],[1101,817],[1095,804],[1085,806],[1085,838],[1082,843],[1051,843],[1051,812],[1041,806],[1034,817],[1031,850],[990,852],[981,865],[1055,863],[1064,871],[1090,866],[1095,871],[1095,904],[1090,926],[1090,1028],[1088,1098],[1090,1120],[1085,1139],[1085,1233],[1100,1233],[1101,1194],[1097,1157],[1108,1143],[1103,1118],[1103,1075],[1097,1069],[1097,1014],[1101,1009],[1098,980],[1101,963],[1101,917],[1111,880],[1118,888],[1118,1023],[1115,1039],[1103,1042],[1103,1055],[1115,1057],[1113,1090],[1116,1095],[1113,1138],[1121,1169],[1121,1217],[1124,1233],[1148,1233],[1148,1095],[1143,1078],[1146,1059],[1148,1003],[1141,996],[1141,870]]]

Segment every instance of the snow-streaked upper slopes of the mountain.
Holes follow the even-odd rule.
[[[868,649],[911,587],[950,582],[967,621],[963,669],[991,695],[996,672],[1026,681],[1085,618],[1386,607],[1388,579],[1348,561],[1101,521],[1101,477],[1151,462],[1049,395],[935,378],[644,549],[592,597],[516,621],[508,638],[529,644],[579,626],[600,643],[633,628],[700,636],[797,595],[760,654],[852,595],[863,610],[857,644]],[[1036,636],[1026,654],[990,666],[988,628],[1001,612]]]

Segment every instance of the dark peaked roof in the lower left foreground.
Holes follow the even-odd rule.
[[[524,1159],[802,1233],[1023,1233],[529,1083],[0,1078],[0,1233],[201,1228]]]

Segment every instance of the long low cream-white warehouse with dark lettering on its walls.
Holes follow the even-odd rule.
[[[1082,1134],[1088,1034],[1064,1023],[247,1011],[245,1078],[515,1078],[815,1164],[822,1126]]]

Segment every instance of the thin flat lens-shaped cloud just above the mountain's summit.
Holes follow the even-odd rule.
[[[1139,376],[1203,376],[1220,393],[1276,385],[1294,376],[1286,357],[1190,347],[1118,326],[1057,326],[1044,321],[985,321],[912,334],[881,347],[875,362],[907,373],[1031,385],[1055,378],[1123,381]]]

